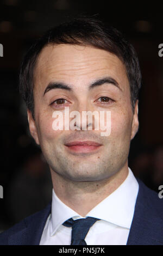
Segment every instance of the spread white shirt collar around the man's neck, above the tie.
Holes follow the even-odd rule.
[[[123,228],[130,229],[133,220],[135,202],[139,190],[139,184],[133,172],[128,167],[129,173],[126,180],[102,202],[96,205],[87,216],[99,218]],[[57,197],[53,190],[52,213],[50,221],[50,233],[55,231],[69,218],[83,218],[76,211],[69,208]]]

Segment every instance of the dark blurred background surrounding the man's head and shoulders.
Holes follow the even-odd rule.
[[[134,45],[143,77],[139,132],[131,141],[129,167],[148,187],[163,185],[163,3],[111,1],[0,1],[0,231],[45,207],[52,182],[41,151],[29,134],[26,106],[18,94],[24,53],[47,29],[78,14],[95,15],[123,32]]]

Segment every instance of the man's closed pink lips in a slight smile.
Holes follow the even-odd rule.
[[[76,153],[91,153],[98,150],[102,144],[94,141],[74,141],[65,144],[71,152]]]

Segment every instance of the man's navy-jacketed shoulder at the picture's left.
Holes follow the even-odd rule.
[[[12,244],[26,244],[28,241],[39,241],[45,222],[51,212],[51,203],[45,209],[36,212],[24,218],[21,222],[16,223],[8,230],[0,234],[0,245],[9,245],[12,237]],[[14,241],[15,239],[15,241]]]

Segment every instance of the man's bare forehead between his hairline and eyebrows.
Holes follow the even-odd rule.
[[[37,59],[34,82],[46,86],[53,80],[84,82],[106,75],[128,84],[126,67],[115,54],[91,46],[48,45]]]

